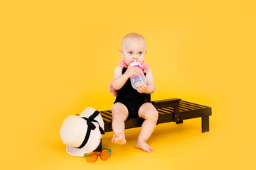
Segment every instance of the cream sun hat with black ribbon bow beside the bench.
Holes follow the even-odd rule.
[[[95,108],[85,108],[80,115],[65,118],[60,128],[60,137],[68,154],[84,157],[85,153],[93,152],[100,145],[104,134],[102,116]]]

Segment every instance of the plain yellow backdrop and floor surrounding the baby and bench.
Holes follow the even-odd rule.
[[[1,1],[1,169],[256,169],[255,1]],[[63,120],[112,108],[108,92],[127,33],[147,43],[153,100],[213,108],[201,119],[156,126],[149,145],[102,137],[107,162],[65,152]]]

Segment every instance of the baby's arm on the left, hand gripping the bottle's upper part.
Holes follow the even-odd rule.
[[[114,90],[121,89],[125,82],[132,76],[132,74],[140,71],[141,69],[138,67],[128,67],[127,71],[122,74],[122,69],[120,67],[116,67],[114,69],[114,79],[112,81]]]

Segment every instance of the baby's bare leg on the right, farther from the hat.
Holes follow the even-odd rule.
[[[139,108],[139,117],[144,118],[144,123],[142,124],[142,129],[139,132],[139,137],[135,147],[142,149],[146,152],[151,152],[153,147],[150,147],[146,140],[149,139],[154,128],[156,127],[156,123],[158,120],[158,112],[156,108],[151,103],[144,103]]]

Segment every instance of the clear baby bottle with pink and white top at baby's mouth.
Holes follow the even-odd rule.
[[[130,63],[131,67],[139,67],[140,69],[143,70],[142,65],[139,64],[139,62],[137,62],[135,59],[133,62]],[[146,77],[144,76],[143,71],[142,72],[137,72],[134,73],[132,75],[132,77],[130,77],[131,79],[131,83],[132,83],[132,87],[137,90],[139,85],[146,85]]]

